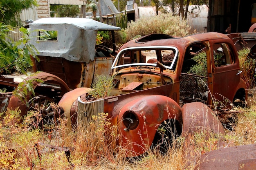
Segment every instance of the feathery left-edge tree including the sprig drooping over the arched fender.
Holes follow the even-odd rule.
[[[0,4],[0,13],[4,14],[4,12]],[[34,57],[39,62],[39,58],[36,55],[38,51],[30,44],[30,29],[20,27],[19,32],[22,37],[18,41],[13,41],[9,37],[10,33],[16,33],[13,31],[13,27],[0,22],[0,77],[3,73],[11,73],[12,70],[26,74],[33,65],[31,57]],[[26,83],[22,82],[18,85],[16,90],[13,91],[13,95],[24,99],[24,102],[28,104],[27,95],[30,93],[35,95],[34,85],[32,83],[34,81],[42,82],[40,79],[29,79]],[[29,95],[29,97],[31,97],[31,95]]]

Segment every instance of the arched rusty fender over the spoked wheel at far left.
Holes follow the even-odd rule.
[[[65,93],[70,91],[69,87],[67,86],[67,84],[62,79],[60,79],[56,75],[52,75],[50,73],[40,72],[40,73],[35,74],[33,76],[27,77],[23,81],[23,83],[26,84],[27,80],[29,80],[29,79],[40,79],[44,83],[59,85],[60,88],[61,88],[61,94],[60,95],[64,95]],[[32,84],[33,84],[33,88],[35,90],[36,87],[40,84],[40,82],[33,81]],[[29,101],[31,96],[32,96],[32,92],[28,93],[25,96],[26,100]],[[24,115],[27,114],[27,105],[26,105],[25,100],[20,99],[19,97],[16,97],[15,95],[12,95],[10,97],[9,104],[8,104],[7,108],[9,108],[10,110],[15,110],[16,108],[19,108],[20,111],[21,111],[20,112],[21,117],[23,117]],[[7,125],[14,125],[14,124],[20,123],[20,122],[22,122],[22,120],[19,120],[18,118],[14,118]],[[5,123],[6,123],[6,121],[3,119],[2,124],[5,125]]]

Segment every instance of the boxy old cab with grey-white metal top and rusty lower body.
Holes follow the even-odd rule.
[[[88,18],[41,18],[29,24],[31,44],[38,50],[33,71],[60,77],[70,89],[90,87],[94,75],[110,73],[119,27]],[[111,31],[113,47],[96,44],[97,31]]]

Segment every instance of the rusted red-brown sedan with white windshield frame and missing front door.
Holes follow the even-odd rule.
[[[199,126],[224,134],[212,109],[225,110],[247,99],[236,48],[221,33],[150,34],[131,40],[119,49],[112,71],[116,84],[111,96],[88,101],[90,89],[77,88],[59,105],[70,128],[108,113],[118,126],[117,145],[127,148],[128,156],[164,147]]]

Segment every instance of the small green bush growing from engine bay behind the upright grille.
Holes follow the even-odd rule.
[[[92,84],[93,90],[89,94],[95,98],[110,96],[110,92],[115,86],[114,78],[114,75],[96,75],[96,80]]]

